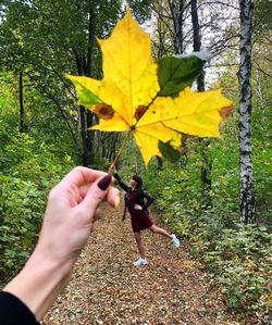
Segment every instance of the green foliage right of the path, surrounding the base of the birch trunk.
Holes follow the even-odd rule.
[[[145,185],[156,197],[162,220],[188,243],[191,254],[201,261],[220,285],[226,308],[237,318],[255,315],[264,320],[271,308],[269,141],[271,129],[268,109],[252,112],[255,191],[259,224],[239,224],[238,129],[234,114],[222,129],[223,140],[206,146],[212,161],[211,204],[207,208],[200,184],[201,143],[186,142],[186,155],[178,163],[163,161],[158,171],[156,160],[145,173]],[[264,124],[260,121],[265,121]],[[265,225],[265,226],[263,226]]]

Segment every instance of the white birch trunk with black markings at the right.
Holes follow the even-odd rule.
[[[256,222],[252,147],[251,147],[251,34],[252,3],[251,0],[240,0],[240,65],[238,72],[239,100],[239,208],[240,221],[245,224]]]

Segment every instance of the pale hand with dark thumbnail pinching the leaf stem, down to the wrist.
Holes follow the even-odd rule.
[[[50,191],[37,247],[42,254],[59,262],[78,257],[98,218],[99,203],[106,198],[114,207],[119,199],[118,189],[110,186],[110,175],[107,187],[98,187],[104,176],[103,172],[76,167]]]

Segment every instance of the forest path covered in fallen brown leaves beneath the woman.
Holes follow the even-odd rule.
[[[129,217],[123,223],[121,210],[104,205],[70,285],[42,324],[227,324],[221,317],[222,302],[185,247],[176,249],[145,230],[149,264],[133,265],[137,249]]]

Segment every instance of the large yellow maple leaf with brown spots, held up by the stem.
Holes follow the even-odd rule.
[[[100,117],[92,129],[133,132],[146,165],[161,155],[159,141],[178,148],[182,134],[220,137],[220,111],[232,102],[221,90],[193,92],[185,88],[176,97],[160,96],[159,65],[151,57],[150,37],[128,10],[112,35],[99,40],[103,54],[103,79],[69,76],[84,104]]]

